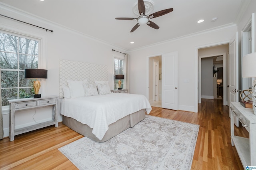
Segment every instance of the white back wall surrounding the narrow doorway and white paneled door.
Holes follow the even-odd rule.
[[[232,25],[130,51],[130,93],[148,95],[148,57],[178,51],[178,109],[197,111],[197,49],[229,42],[236,31],[237,26]],[[138,81],[142,82],[141,86],[135,86]]]

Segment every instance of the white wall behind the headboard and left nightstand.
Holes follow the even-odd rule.
[[[36,18],[34,16],[25,14],[18,10],[9,8],[0,4],[1,14],[28,22],[34,25],[53,30],[54,32],[46,32],[40,28],[23,24],[15,20],[0,17],[0,29],[16,32],[23,35],[33,36],[42,39],[42,57],[44,58],[44,69],[48,70],[48,79],[42,82],[41,94],[46,95],[59,95],[59,60],[67,59],[73,61],[82,61],[87,63],[97,63],[108,66],[108,81],[110,88],[113,89],[113,72],[114,72],[114,56],[122,55],[112,51],[126,53],[123,49],[110,45],[106,42],[96,40],[80,34],[78,32],[63,28],[54,23]],[[35,118],[40,114],[42,109],[36,111]],[[50,110],[45,108],[45,110]],[[4,136],[8,136],[9,128],[9,111],[4,111]],[[32,113],[34,110],[27,111],[19,117],[17,125],[34,124],[32,119]],[[38,119],[48,119],[49,115],[45,117],[38,117]],[[40,121],[40,120],[36,121]],[[59,115],[59,121],[62,121],[62,117]]]

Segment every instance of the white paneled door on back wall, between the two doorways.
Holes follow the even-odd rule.
[[[178,51],[162,55],[162,108],[178,110]]]

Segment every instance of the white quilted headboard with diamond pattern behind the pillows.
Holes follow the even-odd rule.
[[[108,81],[108,66],[61,59],[59,74],[59,95],[63,98],[62,85],[68,85],[67,80],[87,79],[89,83],[94,83],[94,80]]]

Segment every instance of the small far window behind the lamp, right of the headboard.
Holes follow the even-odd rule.
[[[119,80],[116,80],[116,75],[125,74],[125,72],[124,72],[124,63],[125,63],[125,61],[123,59],[115,58],[114,62],[115,62],[114,89],[117,89]],[[121,80],[121,82],[122,82],[121,83],[122,89],[126,88],[125,84],[124,84],[124,80]]]

